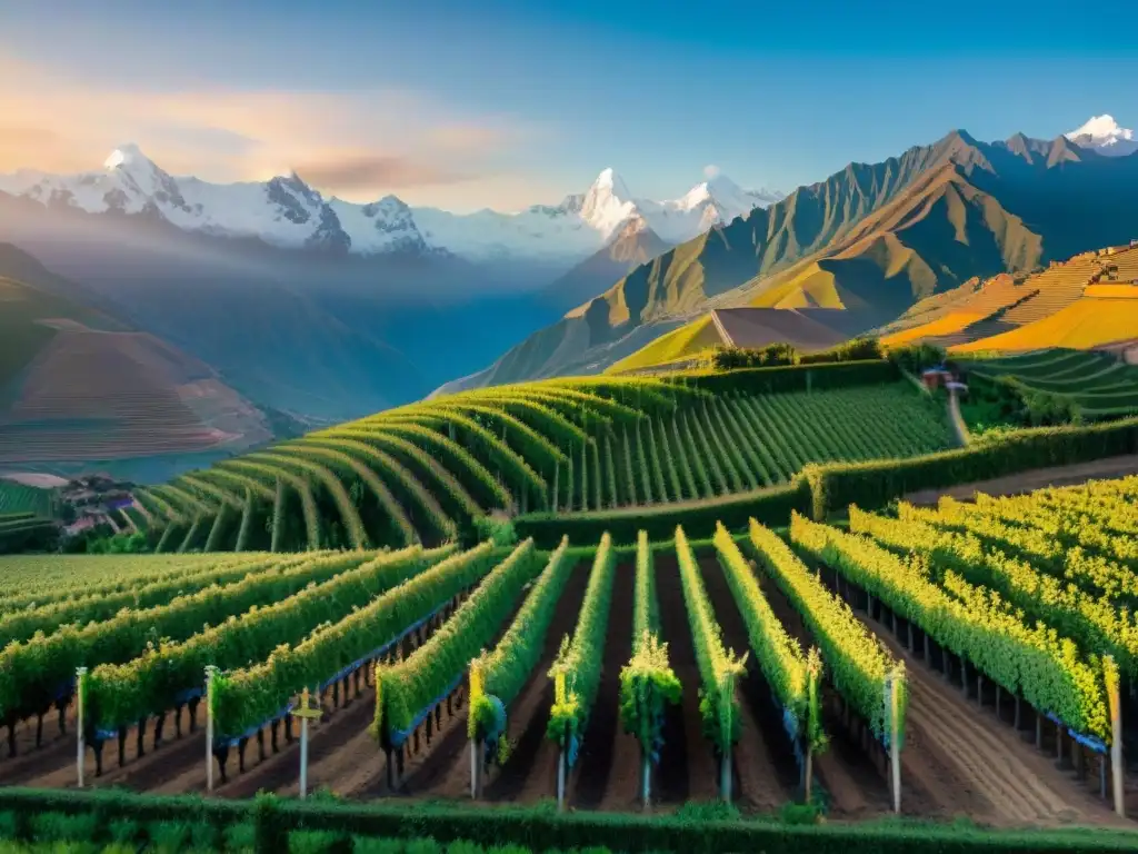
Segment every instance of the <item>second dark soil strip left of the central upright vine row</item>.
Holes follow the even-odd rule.
[[[483,795],[487,800],[533,804],[556,796],[559,750],[545,738],[553,706],[553,682],[546,674],[556,658],[561,639],[571,635],[577,625],[591,569],[589,563],[583,563],[572,570],[550,625],[542,660],[506,709],[513,756],[503,767],[493,770],[484,782]]]

